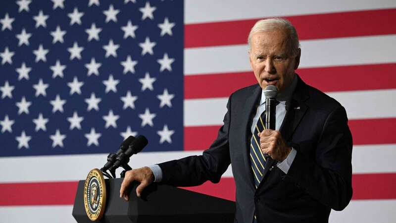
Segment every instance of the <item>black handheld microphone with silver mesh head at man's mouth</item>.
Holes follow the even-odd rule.
[[[268,85],[264,89],[265,95],[265,128],[275,130],[276,124],[276,96],[278,89],[274,85]]]

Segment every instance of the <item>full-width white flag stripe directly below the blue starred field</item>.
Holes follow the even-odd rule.
[[[138,168],[201,154],[202,151],[140,153],[129,164]],[[395,157],[396,144],[354,146],[353,173],[396,172]],[[0,158],[0,168],[4,170],[0,182],[77,181],[85,179],[91,169],[102,167],[106,158],[107,154]],[[223,177],[232,176],[230,166]]]

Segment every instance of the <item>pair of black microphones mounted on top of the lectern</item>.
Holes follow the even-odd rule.
[[[127,165],[129,162],[129,158],[133,155],[133,154],[137,154],[140,151],[143,150],[143,148],[148,144],[148,140],[145,136],[143,135],[139,135],[138,137],[136,137],[136,139],[134,141],[132,141],[129,144],[128,149],[123,152],[120,153],[117,158],[116,161],[114,162],[114,165],[112,167],[109,168],[110,171],[115,171],[116,168],[120,167],[120,166],[125,166],[128,167],[129,170],[130,167]]]

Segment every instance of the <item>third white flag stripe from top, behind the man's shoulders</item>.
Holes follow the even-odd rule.
[[[396,89],[329,93],[347,110],[349,119],[396,117]],[[222,125],[227,98],[188,99],[184,102],[184,126]],[[243,105],[241,105],[243,106]]]

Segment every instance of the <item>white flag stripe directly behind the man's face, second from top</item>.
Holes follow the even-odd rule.
[[[396,35],[301,41],[299,68],[396,62],[395,43]],[[245,44],[185,49],[184,73],[250,71],[247,50]]]

